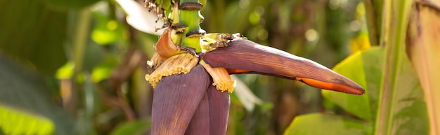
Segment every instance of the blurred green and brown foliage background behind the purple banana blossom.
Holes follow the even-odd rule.
[[[370,47],[360,0],[207,1],[201,13],[208,33],[240,33],[330,69]],[[144,76],[159,36],[126,16],[113,0],[0,0],[0,134],[148,130]],[[294,80],[235,77],[251,92],[231,94],[228,134],[283,134],[295,116],[332,107]]]

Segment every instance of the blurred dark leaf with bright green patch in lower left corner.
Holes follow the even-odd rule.
[[[49,81],[0,55],[0,129],[5,134],[73,134]],[[56,87],[52,87],[56,89]]]

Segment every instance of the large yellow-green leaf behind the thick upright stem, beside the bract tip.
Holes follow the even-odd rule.
[[[323,97],[347,112],[368,121],[375,121],[378,94],[382,82],[383,48],[370,48],[351,55],[335,66],[335,71],[365,87],[361,97],[323,90]],[[392,99],[393,134],[427,134],[428,118],[422,88],[408,59],[402,59],[396,71],[396,90]]]

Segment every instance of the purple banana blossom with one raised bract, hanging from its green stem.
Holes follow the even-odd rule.
[[[164,32],[148,61],[145,79],[154,88],[151,134],[226,134],[231,74],[258,73],[312,87],[363,94],[354,81],[309,59],[259,45],[240,34],[200,29],[206,1],[146,1],[163,19]],[[169,11],[169,15],[167,15]]]

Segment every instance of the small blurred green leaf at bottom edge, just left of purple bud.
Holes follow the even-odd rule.
[[[150,130],[151,120],[143,119],[136,120],[133,122],[126,122],[121,125],[118,125],[115,130],[112,131],[111,135],[125,135],[125,134],[145,134],[148,130]]]

